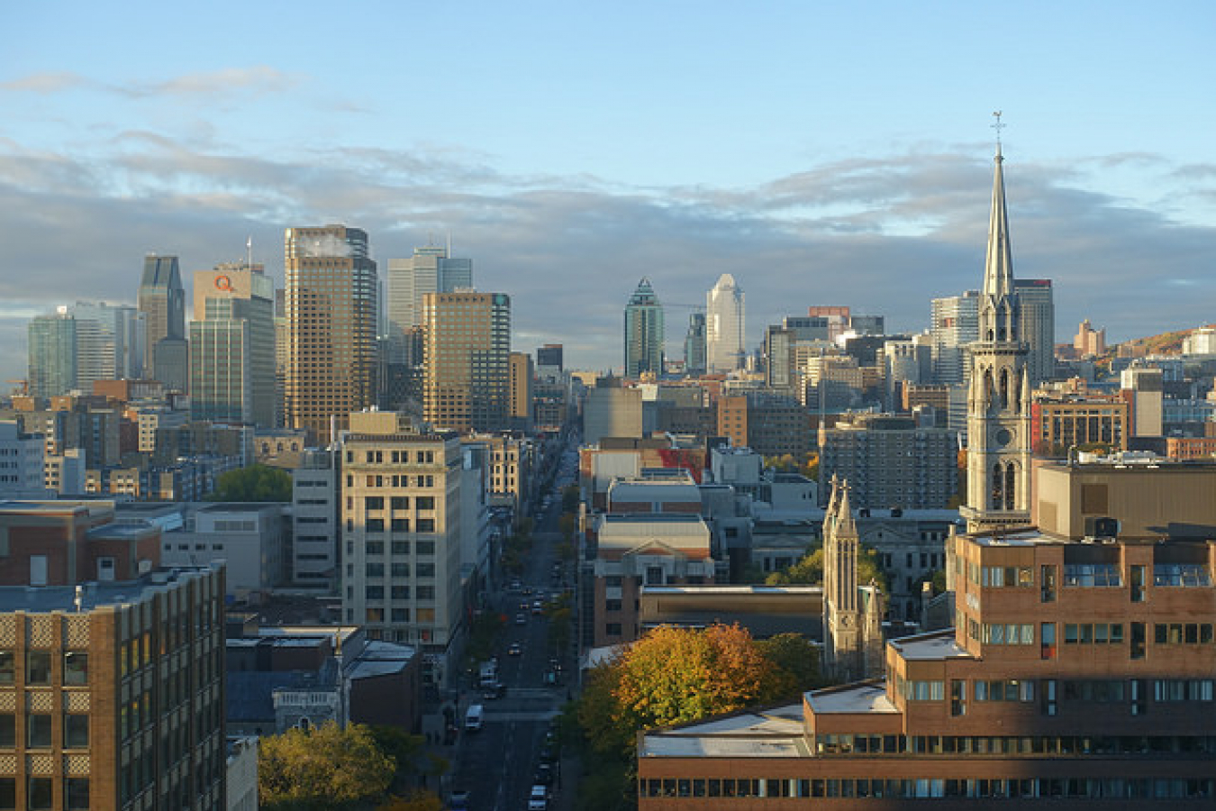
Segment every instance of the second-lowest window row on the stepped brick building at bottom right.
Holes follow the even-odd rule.
[[[1216,754],[1216,736],[821,734],[821,755],[1145,755]]]

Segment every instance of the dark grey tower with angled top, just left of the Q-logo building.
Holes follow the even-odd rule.
[[[186,289],[176,257],[148,254],[143,258],[139,309],[147,323],[145,377],[168,388],[185,390],[188,382],[186,349]]]

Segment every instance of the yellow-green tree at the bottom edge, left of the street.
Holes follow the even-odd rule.
[[[261,739],[258,794],[270,810],[334,809],[384,796],[394,771],[367,727],[330,721]]]

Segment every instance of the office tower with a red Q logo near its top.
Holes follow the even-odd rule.
[[[275,283],[261,265],[195,272],[190,412],[197,421],[275,426]]]

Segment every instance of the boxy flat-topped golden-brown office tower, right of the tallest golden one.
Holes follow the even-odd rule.
[[[458,433],[507,428],[511,297],[428,293],[423,315],[423,419],[435,429]]]

